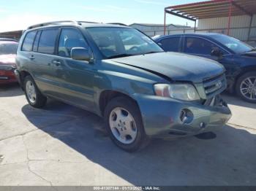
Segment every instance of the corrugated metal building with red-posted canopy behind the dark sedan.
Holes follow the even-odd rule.
[[[167,14],[192,20],[195,26],[198,22],[196,32],[227,34],[242,41],[256,40],[256,0],[212,0],[181,4],[166,7],[165,17]]]

